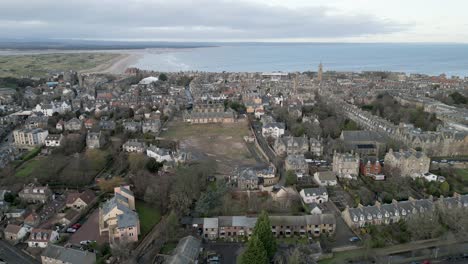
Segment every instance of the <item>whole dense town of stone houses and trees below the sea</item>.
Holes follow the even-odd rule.
[[[468,258],[467,77],[0,78],[0,140],[7,262]]]

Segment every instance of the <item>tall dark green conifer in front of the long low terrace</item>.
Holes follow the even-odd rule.
[[[276,253],[276,239],[271,232],[270,218],[268,218],[266,211],[262,211],[260,216],[257,218],[257,223],[255,223],[252,237],[253,236],[258,237],[266,250],[268,258],[272,259]]]

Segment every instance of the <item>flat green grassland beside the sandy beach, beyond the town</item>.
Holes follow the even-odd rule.
[[[111,53],[57,53],[0,56],[0,77],[46,77],[48,72],[81,71],[108,63]]]

